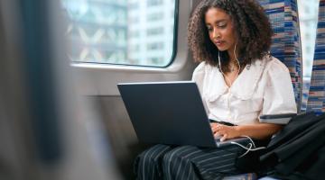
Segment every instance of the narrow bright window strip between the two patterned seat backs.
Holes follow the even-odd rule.
[[[302,111],[305,111],[311,85],[311,68],[314,58],[320,0],[298,0],[297,3],[302,40]]]

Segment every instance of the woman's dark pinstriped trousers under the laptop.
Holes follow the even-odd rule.
[[[235,145],[199,148],[159,144],[136,157],[135,174],[142,180],[222,179],[225,175],[240,173],[235,161],[244,152]]]

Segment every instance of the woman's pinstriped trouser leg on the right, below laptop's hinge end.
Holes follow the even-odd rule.
[[[164,175],[168,179],[215,179],[222,175],[238,173],[235,168],[238,148],[198,148],[181,146],[173,148],[163,157]]]

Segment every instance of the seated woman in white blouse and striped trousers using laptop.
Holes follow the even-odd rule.
[[[269,55],[272,29],[253,0],[203,0],[189,23],[193,72],[211,130],[221,140],[269,139],[282,126],[259,122],[261,114],[297,112],[288,68]],[[240,173],[244,148],[156,145],[135,161],[138,179],[218,179]]]

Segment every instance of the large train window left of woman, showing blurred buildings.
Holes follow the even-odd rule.
[[[61,0],[61,4],[69,21],[68,56],[73,62],[152,67],[172,62],[177,0]]]

